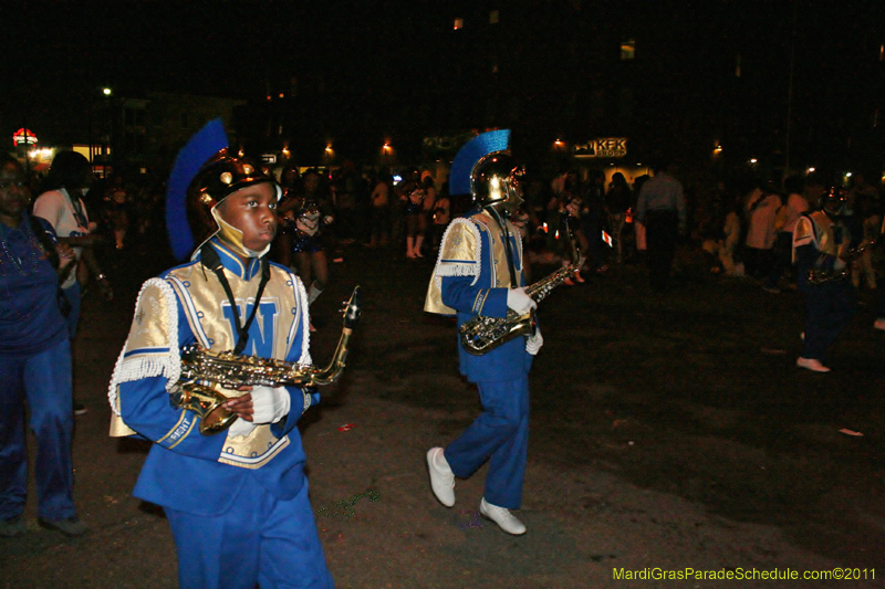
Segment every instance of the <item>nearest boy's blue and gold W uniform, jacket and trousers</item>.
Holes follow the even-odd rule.
[[[231,192],[240,180],[242,186],[272,182],[237,158],[228,159],[236,168],[233,181],[229,172],[221,175],[221,181],[231,185]],[[239,178],[236,170],[243,168],[253,176]],[[171,196],[171,179],[169,183]],[[230,228],[220,224],[219,234],[229,235]],[[308,299],[301,281],[261,255],[243,263],[229,243],[212,236],[189,263],[144,284],[108,390],[114,411],[111,434],[137,434],[154,442],[134,495],[164,507],[176,540],[180,587],[331,588],[296,429],[298,418],[319,402],[319,396],[287,387],[287,417],[215,435],[200,434],[200,418],[170,402],[180,374],[180,347],[235,349],[239,317],[251,315],[256,304],[242,353],[311,364]],[[207,271],[204,257],[209,251],[218,256],[232,296]],[[262,266],[269,280],[256,303]],[[227,397],[242,395],[218,390]]]

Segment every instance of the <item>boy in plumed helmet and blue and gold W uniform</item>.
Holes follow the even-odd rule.
[[[180,587],[331,588],[295,427],[319,396],[219,387],[238,419],[214,435],[178,402],[179,346],[311,364],[304,286],[267,259],[280,186],[233,154],[216,119],[178,155],[167,192],[173,249],[183,257],[207,239],[142,287],[108,390],[111,434],[155,442],[133,494],[166,511]]]

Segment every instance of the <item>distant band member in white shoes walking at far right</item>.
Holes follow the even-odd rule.
[[[845,194],[832,187],[821,198],[821,208],[799,218],[793,230],[793,263],[796,284],[805,295],[805,336],[799,368],[829,372],[826,348],[847,326],[856,307],[846,270],[851,236],[840,213]],[[813,272],[812,272],[813,271]],[[810,280],[810,274],[815,277]]]

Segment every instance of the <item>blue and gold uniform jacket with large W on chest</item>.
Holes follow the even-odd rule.
[[[256,304],[261,263],[253,259],[243,266],[217,239],[211,244],[240,317],[248,317]],[[308,366],[310,319],[304,286],[283,266],[271,264],[270,272],[243,354]],[[181,512],[219,515],[230,507],[248,476],[281,499],[302,488],[305,455],[295,423],[308,401],[319,402],[317,395],[305,398],[301,389],[288,388],[292,409],[287,419],[236,437],[200,434],[200,418],[169,401],[168,390],[180,374],[181,346],[233,349],[236,322],[218,277],[198,256],[143,285],[108,390],[114,411],[111,435],[138,434],[154,442],[135,496]],[[228,397],[243,395],[218,390]]]

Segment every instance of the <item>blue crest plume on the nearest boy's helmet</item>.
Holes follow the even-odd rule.
[[[228,147],[220,118],[210,120],[178,151],[166,185],[166,230],[177,260],[188,257],[196,246],[187,221],[187,188],[209,158]]]

